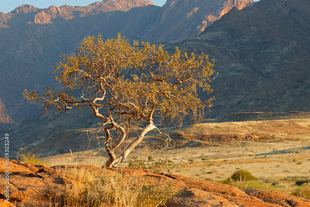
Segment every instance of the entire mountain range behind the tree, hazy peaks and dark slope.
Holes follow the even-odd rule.
[[[252,1],[225,3],[168,0],[163,7],[144,1],[132,1],[135,4],[123,1],[128,4],[116,4],[118,1],[104,1],[87,7],[63,6],[57,7],[58,9],[38,9],[24,5],[12,11],[14,15],[7,14],[5,21],[2,17],[0,34],[5,38],[0,41],[0,113],[1,126],[6,129],[2,132],[16,137],[12,150],[21,147],[38,149],[38,146],[50,142],[60,144],[56,141],[57,137],[74,138],[81,131],[76,129],[87,128],[98,122],[92,113],[84,111],[82,115],[72,113],[67,119],[56,118],[52,125],[47,121],[44,126],[44,119],[40,118],[40,114],[33,115],[38,111],[38,106],[33,107],[23,101],[21,95],[24,88],[42,89],[48,84],[56,87],[51,70],[54,69],[54,63],[61,61],[57,55],[74,52],[83,36],[98,33],[102,33],[104,38],[111,38],[117,32],[122,32],[129,39],[139,40],[138,36],[144,35],[143,32],[146,31],[142,40],[161,42],[169,52],[174,47],[182,50],[186,48],[189,52],[203,52],[215,59],[215,70],[219,75],[214,76],[211,83],[214,89],[212,95],[216,98],[214,106],[210,108],[212,122],[225,121],[227,115],[238,112],[309,111],[308,1],[288,0],[281,4],[276,0],[261,0],[253,5]],[[212,12],[198,15],[198,11],[207,9],[202,8],[203,3],[212,3]],[[217,5],[223,6],[220,7],[221,12],[217,11]],[[224,5],[228,7],[224,9]],[[231,7],[238,5],[243,5],[244,8]],[[170,12],[175,12],[174,21],[169,19],[173,18],[172,13],[170,16],[167,12],[169,9]],[[54,12],[53,15],[49,11],[59,13]],[[11,15],[10,18],[8,15]],[[193,18],[194,15],[199,17]],[[202,29],[201,20],[210,15],[216,16],[218,20],[210,21]],[[161,18],[165,20],[162,24]],[[117,25],[117,22],[122,24]],[[189,25],[194,24],[189,29]],[[171,35],[166,33],[168,29],[171,29]],[[191,32],[185,32],[187,29]],[[27,41],[29,47],[22,52],[21,48]],[[19,55],[18,51],[21,52]],[[209,96],[200,93],[201,99]],[[208,118],[208,111],[206,115]],[[25,117],[27,118],[24,119]],[[95,143],[91,145],[96,146]],[[81,150],[79,146],[71,147],[73,151],[78,151]]]

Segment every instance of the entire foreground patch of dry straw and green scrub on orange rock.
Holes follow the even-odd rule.
[[[122,173],[91,173],[84,169],[59,168],[58,174],[73,181],[52,197],[53,207],[156,207],[165,206],[176,191],[164,183],[149,184],[123,177]]]

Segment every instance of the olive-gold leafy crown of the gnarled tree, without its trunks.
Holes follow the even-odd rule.
[[[37,95],[37,91],[28,93],[25,89],[24,98],[34,99],[35,102],[42,100],[43,105],[54,105],[56,110],[64,112],[71,106],[93,106],[95,98],[102,97],[101,93],[98,96],[99,92],[105,90],[104,99],[112,101],[107,105],[118,104],[121,107],[121,103],[131,102],[133,104],[126,107],[146,110],[146,113],[152,108],[162,117],[176,117],[181,112],[188,115],[187,112],[192,111],[193,118],[200,115],[196,112],[211,106],[214,100],[212,97],[201,102],[197,98],[197,87],[212,92],[208,82],[211,82],[210,76],[215,74],[214,60],[209,60],[207,55],[187,54],[178,47],[169,55],[163,50],[163,45],[144,42],[140,48],[137,41],[131,44],[121,34],[106,41],[103,41],[101,34],[86,37],[78,52],[63,55],[64,60],[57,64],[53,72],[60,71],[55,79],[63,89],[89,90],[89,94],[82,94],[83,101],[77,101],[71,93],[50,87],[45,89],[43,96]],[[128,72],[131,74],[128,75]],[[126,107],[122,105],[121,108]],[[132,113],[126,115],[128,120],[135,117]]]

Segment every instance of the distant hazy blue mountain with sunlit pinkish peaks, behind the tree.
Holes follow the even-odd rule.
[[[60,54],[76,52],[83,37],[121,33],[131,40],[159,42],[195,36],[233,6],[252,0],[168,1],[163,7],[144,0],[104,0],[86,7],[23,5],[0,12],[0,129],[38,112],[22,90],[56,87],[54,64]],[[10,126],[11,126],[10,125]]]

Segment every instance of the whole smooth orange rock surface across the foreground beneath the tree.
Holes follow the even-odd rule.
[[[0,158],[1,179],[5,179],[4,171],[10,170],[10,203],[4,201],[5,186],[0,184],[0,204],[3,206],[48,207],[51,196],[58,190],[65,189],[73,182],[61,176],[59,169],[75,168],[90,172],[122,173],[125,177],[141,179],[150,183],[161,182],[172,184],[179,194],[168,200],[167,207],[207,207],[207,206],[259,206],[259,207],[306,207],[310,206],[309,199],[286,195],[276,191],[262,189],[239,190],[236,187],[213,181],[198,180],[180,175],[152,173],[142,169],[109,168],[103,169],[85,165],[60,165],[45,167],[10,160],[8,164]]]

